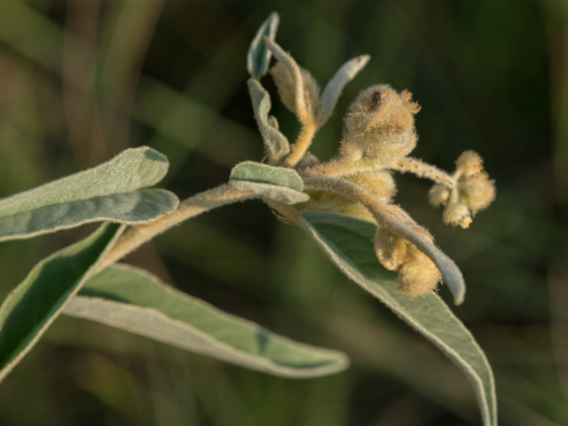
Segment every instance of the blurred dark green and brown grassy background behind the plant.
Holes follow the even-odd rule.
[[[497,200],[468,230],[442,224],[428,182],[398,176],[396,202],[466,277],[453,309],[493,365],[501,425],[568,424],[565,0],[1,0],[0,197],[127,146],[168,155],[162,185],[182,199],[260,160],[245,58],[272,11],[278,42],[319,83],[371,55],[316,137],[320,159],[335,154],[351,100],[375,83],[422,105],[414,155],[446,170],[466,149],[485,158]],[[294,138],[295,117],[273,104]],[[1,244],[0,296],[92,229]],[[480,424],[461,371],[259,201],[177,226],[127,261],[272,331],[343,350],[352,366],[280,379],[60,318],[0,385],[0,424]]]

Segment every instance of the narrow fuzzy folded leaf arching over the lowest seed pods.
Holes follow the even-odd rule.
[[[465,282],[460,269],[452,259],[428,241],[422,233],[416,231],[417,225],[412,217],[398,206],[385,204],[369,193],[365,188],[355,185],[343,179],[333,177],[304,177],[304,189],[306,191],[328,191],[348,197],[353,201],[359,201],[375,217],[378,224],[392,233],[397,233],[413,243],[432,262],[436,264],[442,273],[443,279],[454,295],[454,303],[461,304],[465,296]]]

